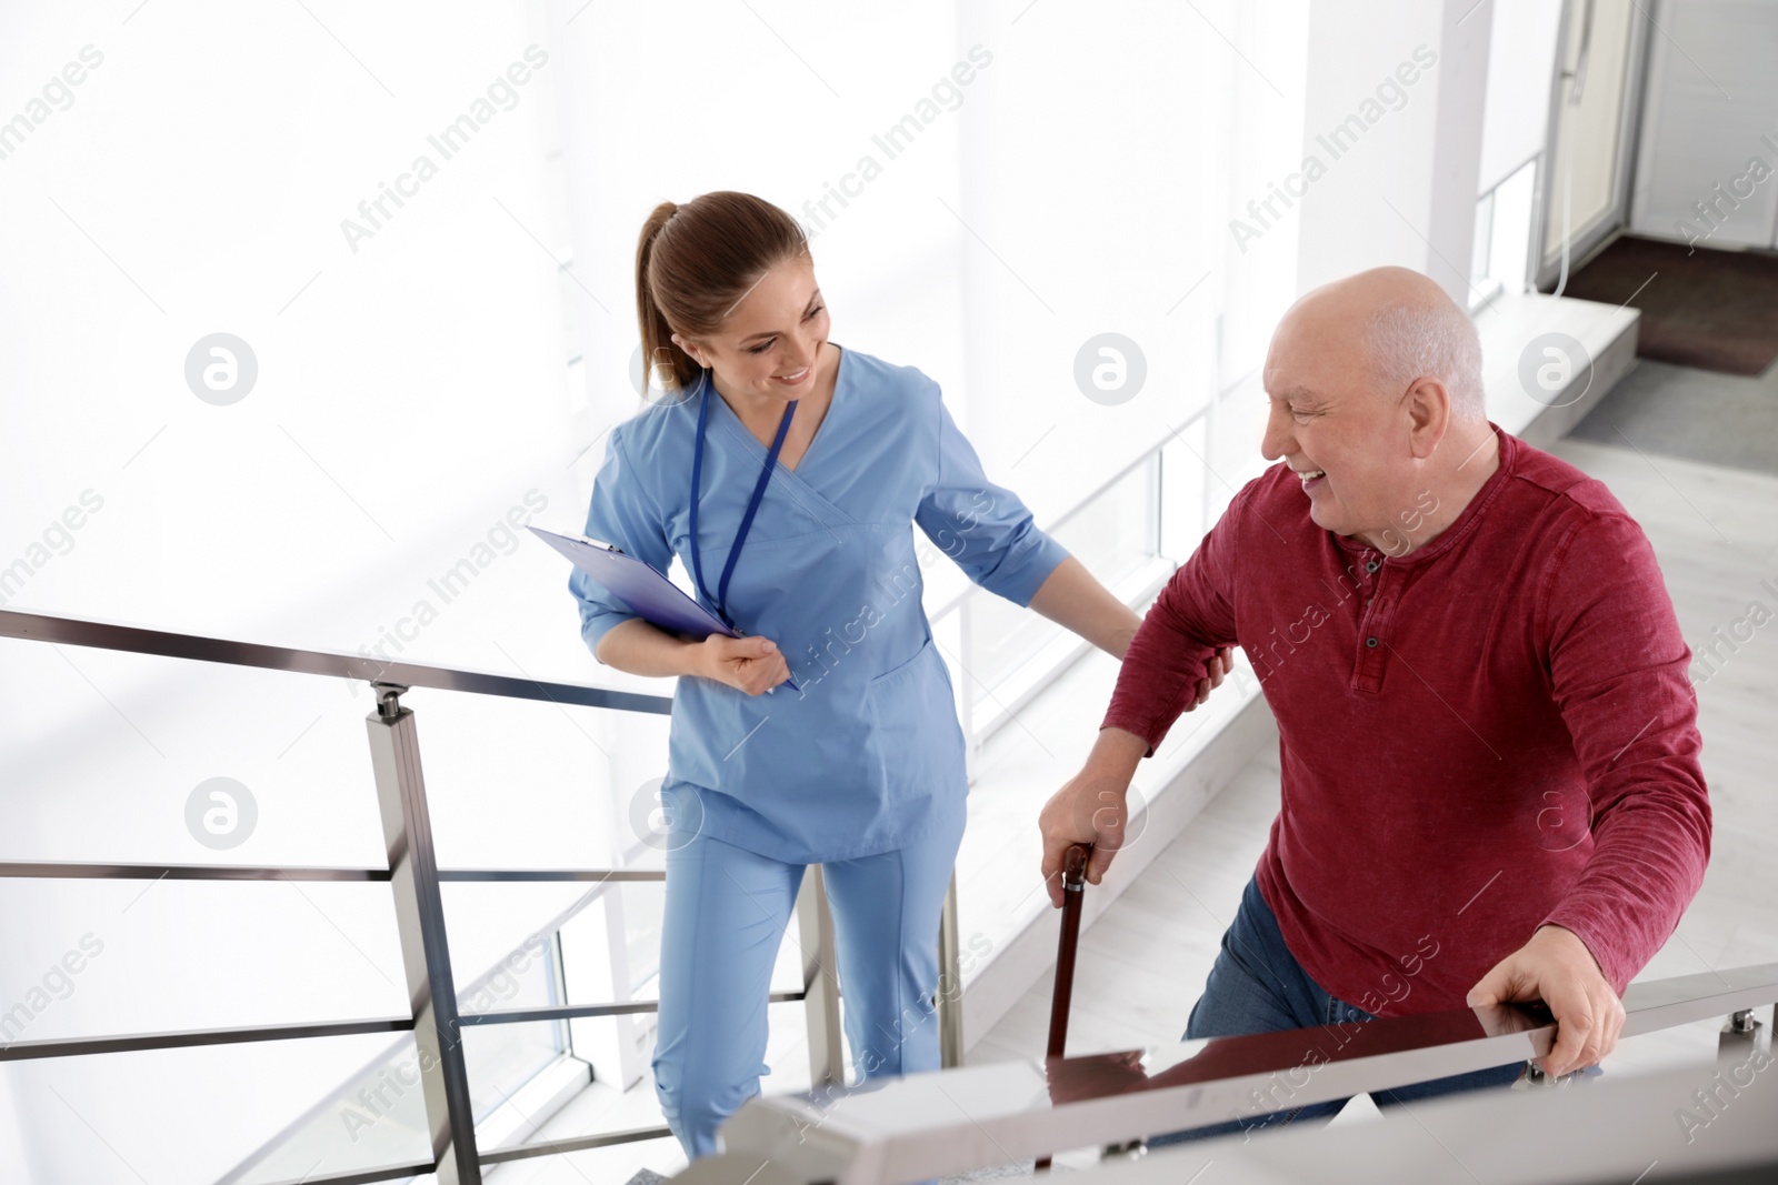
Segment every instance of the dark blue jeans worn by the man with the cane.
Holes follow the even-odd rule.
[[[1344,1000],[1335,1000],[1321,984],[1309,977],[1309,972],[1303,970],[1284,945],[1284,934],[1278,933],[1278,919],[1273,917],[1266,899],[1259,894],[1259,881],[1248,879],[1246,890],[1241,894],[1241,908],[1236,910],[1234,922],[1223,934],[1221,952],[1216,956],[1216,965],[1211,966],[1204,995],[1191,1007],[1182,1039],[1237,1038],[1253,1032],[1312,1029],[1317,1025],[1366,1020],[1376,1018]],[[1392,1091],[1373,1091],[1371,1100],[1380,1109],[1387,1109],[1438,1094],[1511,1086],[1520,1070],[1524,1070],[1524,1062],[1517,1061],[1511,1066],[1476,1070]],[[1289,1089],[1285,1087],[1282,1096],[1273,1094],[1269,1101],[1287,1100]],[[1184,1141],[1232,1135],[1236,1132],[1278,1128],[1287,1123],[1332,1119],[1348,1101],[1337,1098],[1264,1114],[1255,1105],[1252,1114],[1243,1114],[1229,1123],[1213,1123],[1186,1132],[1156,1135],[1149,1139],[1149,1144],[1182,1144]]]

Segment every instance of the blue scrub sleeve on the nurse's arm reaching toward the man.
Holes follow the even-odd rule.
[[[944,400],[933,402],[939,405],[939,469],[914,521],[969,579],[1028,606],[1069,553],[1037,528],[1017,494],[989,481]]]

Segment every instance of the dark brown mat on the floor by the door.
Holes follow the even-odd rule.
[[[1778,258],[1769,254],[1625,235],[1570,275],[1563,295],[1629,300],[1643,314],[1639,357],[1728,375],[1758,375],[1778,357]]]

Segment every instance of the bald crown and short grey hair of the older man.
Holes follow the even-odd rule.
[[[1401,396],[1415,378],[1435,378],[1451,398],[1458,423],[1485,423],[1481,339],[1454,300],[1410,268],[1371,268],[1337,279],[1291,306],[1278,325],[1305,343],[1358,346],[1355,362],[1376,391]]]

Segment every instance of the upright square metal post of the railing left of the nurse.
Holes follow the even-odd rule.
[[[377,776],[382,839],[389,851],[389,887],[402,936],[402,966],[414,1014],[420,1084],[439,1185],[482,1185],[475,1148],[475,1112],[464,1066],[457,988],[444,942],[432,817],[420,773],[420,734],[412,711],[402,707],[398,684],[372,684],[377,711],[364,718],[370,762]]]

